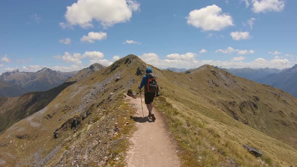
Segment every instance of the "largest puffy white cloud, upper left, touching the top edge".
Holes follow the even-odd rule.
[[[127,22],[132,12],[139,10],[140,4],[132,0],[78,0],[67,7],[65,19],[68,25],[93,27],[93,20],[104,27]]]

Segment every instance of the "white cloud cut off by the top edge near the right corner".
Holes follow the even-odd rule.
[[[254,13],[280,12],[284,8],[282,0],[252,0]]]

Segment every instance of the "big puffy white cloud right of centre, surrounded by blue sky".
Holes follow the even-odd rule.
[[[232,17],[216,5],[193,10],[186,17],[187,23],[203,31],[220,31],[228,26],[233,26]]]

